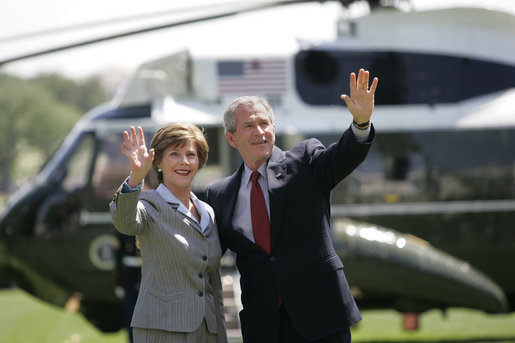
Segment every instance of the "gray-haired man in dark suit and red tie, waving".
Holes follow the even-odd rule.
[[[361,315],[332,244],[329,198],[368,153],[377,83],[369,89],[363,69],[351,74],[350,96],[341,98],[353,123],[327,148],[316,139],[289,151],[275,147],[273,112],[263,98],[240,97],[227,107],[226,137],[244,164],[208,187],[206,197],[224,251],[237,256],[245,343],[350,342],[349,328]],[[263,195],[255,195],[258,188]],[[261,207],[267,229],[257,232]]]

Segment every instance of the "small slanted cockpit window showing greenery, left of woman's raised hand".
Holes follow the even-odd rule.
[[[82,136],[73,155],[67,161],[66,175],[62,183],[65,190],[71,192],[87,184],[94,146],[92,134]]]

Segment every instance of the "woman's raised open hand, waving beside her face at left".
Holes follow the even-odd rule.
[[[155,154],[154,149],[150,149],[147,152],[145,136],[143,135],[141,126],[138,126],[137,135],[134,126],[131,126],[130,135],[127,131],[123,132],[121,149],[122,153],[129,159],[132,167],[131,175],[128,180],[129,186],[136,187],[143,181],[149,169],[152,167]]]

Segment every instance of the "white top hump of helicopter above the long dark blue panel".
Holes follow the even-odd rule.
[[[486,8],[443,8],[401,12],[377,9],[373,15],[342,18],[339,39],[322,46],[403,50],[473,56],[515,64],[515,15]]]

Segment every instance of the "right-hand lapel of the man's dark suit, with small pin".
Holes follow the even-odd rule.
[[[268,195],[270,198],[270,225],[272,252],[279,235],[284,209],[284,183],[286,180],[286,154],[279,148],[274,151],[267,165]]]

